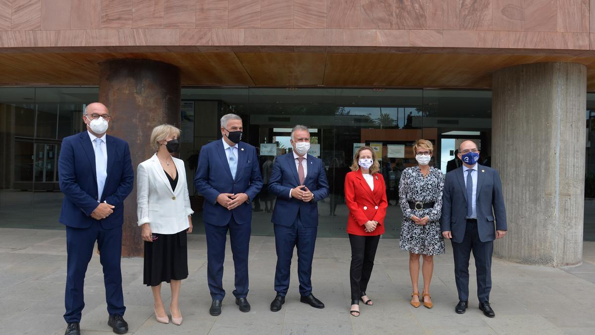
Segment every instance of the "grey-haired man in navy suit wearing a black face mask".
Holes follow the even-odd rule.
[[[207,247],[207,275],[211,291],[211,315],[221,314],[223,260],[229,231],[233,265],[236,270],[236,304],[250,311],[248,295],[248,249],[252,222],[250,203],[262,188],[256,148],[242,142],[242,118],[236,114],[221,117],[220,141],[201,148],[194,184],[203,197]]]

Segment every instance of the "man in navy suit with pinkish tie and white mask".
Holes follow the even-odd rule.
[[[277,196],[271,222],[275,229],[277,268],[271,311],[280,311],[289,288],[293,248],[297,246],[297,277],[300,302],[315,308],[324,303],[312,294],[312,258],[318,231],[317,202],[328,196],[328,182],[322,160],[308,154],[310,133],[306,126],[292,129],[293,151],[277,157],[271,171],[269,191]]]

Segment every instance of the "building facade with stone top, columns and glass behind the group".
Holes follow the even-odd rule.
[[[430,139],[446,172],[474,139],[505,190],[511,231],[496,254],[580,263],[595,239],[593,2],[0,0],[0,226],[61,228],[60,142],[101,101],[135,167],[155,125],[180,126],[189,176],[223,114],[243,117],[264,175],[290,128],[308,125],[331,181],[325,236],[346,235],[342,178],[358,145],[382,157],[384,237],[396,238],[412,143]],[[135,201],[126,255],[142,246]],[[273,233],[273,203],[263,192],[253,204],[254,234]]]

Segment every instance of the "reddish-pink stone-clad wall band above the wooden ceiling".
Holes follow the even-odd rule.
[[[0,48],[589,50],[592,11],[595,0],[0,0]]]

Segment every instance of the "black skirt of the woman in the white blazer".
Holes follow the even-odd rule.
[[[145,241],[145,276],[143,284],[158,286],[166,281],[188,277],[186,229],[177,234],[153,234],[156,239]]]

